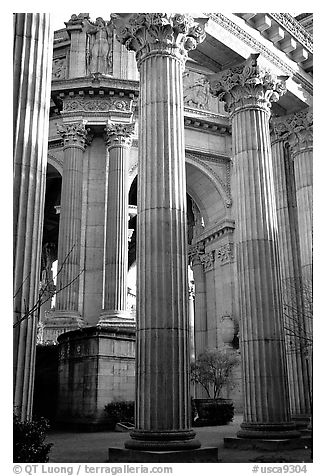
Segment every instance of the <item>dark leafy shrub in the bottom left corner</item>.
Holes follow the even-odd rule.
[[[21,422],[14,415],[14,463],[47,463],[52,443],[44,443],[49,424],[45,418]]]

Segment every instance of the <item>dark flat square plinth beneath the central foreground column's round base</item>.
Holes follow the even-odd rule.
[[[109,448],[109,463],[219,463],[218,449],[207,447],[184,451],[138,451]]]

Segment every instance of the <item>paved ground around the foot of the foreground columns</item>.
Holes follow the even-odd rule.
[[[224,437],[235,436],[242,422],[242,415],[235,415],[234,421],[223,426],[206,426],[195,428],[202,447],[218,447],[222,463],[248,462],[311,462],[310,449],[284,450],[278,453],[271,451],[235,450],[223,447]],[[50,463],[105,463],[108,459],[108,448],[123,447],[128,438],[127,433],[119,432],[59,432],[49,433],[47,441],[53,443]],[[132,461],[131,461],[132,463]]]

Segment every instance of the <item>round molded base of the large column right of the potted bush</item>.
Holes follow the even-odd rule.
[[[238,438],[260,438],[264,440],[286,440],[299,438],[300,431],[293,422],[286,423],[241,423]]]

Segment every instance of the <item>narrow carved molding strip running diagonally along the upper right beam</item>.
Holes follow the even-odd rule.
[[[254,51],[257,51],[262,54],[268,61],[274,64],[277,68],[281,69],[286,75],[292,77],[292,79],[299,83],[300,85],[304,86],[305,90],[312,95],[313,93],[313,86],[312,83],[309,82],[304,76],[298,73],[295,69],[291,68],[287,63],[282,61],[275,53],[273,53],[270,49],[264,46],[262,43],[254,39],[249,33],[243,30],[240,26],[236,23],[231,21],[222,13],[205,13],[212,21],[217,23],[219,26],[227,30],[228,32],[232,33],[234,36],[239,38],[245,44],[247,44],[250,48]]]

